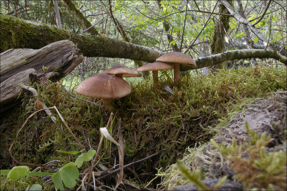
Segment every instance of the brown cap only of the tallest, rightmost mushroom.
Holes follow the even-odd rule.
[[[181,52],[168,52],[156,59],[156,62],[168,62],[174,64],[185,64],[187,66],[195,67],[195,61]]]

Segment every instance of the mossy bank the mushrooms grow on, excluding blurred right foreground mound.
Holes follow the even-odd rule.
[[[286,91],[286,68],[281,69],[285,73],[270,69],[274,68],[257,66],[221,70],[208,76],[185,75],[177,87],[173,87],[173,80],[166,73],[159,81],[165,81],[173,89],[174,95],[163,90],[163,84],[153,92],[152,80],[131,83],[131,94],[115,100],[115,130],[112,134],[116,137],[117,122],[121,118],[125,144],[124,163],[128,164],[161,150],[160,155],[135,165],[137,174],[143,173],[140,176],[141,182],[150,181],[155,177],[150,173],[156,174],[156,168],[165,168],[174,163],[195,142],[209,141],[215,134],[214,127],[219,123],[218,119],[231,112],[234,104],[240,104],[244,98],[265,97],[269,92]],[[86,145],[86,150],[89,144],[97,149],[100,120],[103,118],[103,124],[106,125],[110,114],[79,99],[72,99],[63,91],[60,83],[42,80],[30,85],[37,90],[39,99],[48,107],[57,107],[76,137]],[[98,104],[101,105],[101,101]],[[12,113],[1,114],[3,167],[11,167],[8,148],[24,121],[37,110],[36,99],[30,92],[26,92],[19,107],[13,112],[11,110]],[[44,111],[28,120],[12,148],[17,160],[38,164],[60,160],[62,163],[59,167],[75,161],[72,155],[56,152],[71,150],[67,137],[72,140],[76,150],[80,149],[56,112],[51,111],[57,118],[57,124],[53,124]],[[118,156],[114,145],[112,159],[102,159],[101,162],[112,167],[115,159],[113,155]],[[133,174],[128,176],[134,178]]]

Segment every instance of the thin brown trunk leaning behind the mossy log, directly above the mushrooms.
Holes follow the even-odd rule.
[[[109,5],[112,3],[112,1],[109,1]],[[110,9],[110,15],[115,23],[115,25],[117,26],[117,30],[119,31],[119,33],[121,34],[123,40],[125,42],[131,42],[129,37],[127,36],[126,32],[125,32],[125,29],[123,28],[123,26],[121,25],[121,23],[114,17],[113,15],[113,11],[112,11],[112,6],[109,6],[109,9]],[[141,61],[141,60],[133,60],[133,63],[135,64],[135,67],[136,68],[139,68],[141,66],[144,65],[144,63]],[[148,71],[145,71],[145,72],[141,72],[142,73],[142,77],[144,79],[146,79],[149,75],[149,72]]]

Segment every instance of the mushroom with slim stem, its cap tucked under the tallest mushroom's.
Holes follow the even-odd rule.
[[[173,66],[164,62],[153,62],[137,68],[138,72],[152,71],[152,78],[154,80],[154,88],[158,89],[158,70],[173,69]]]

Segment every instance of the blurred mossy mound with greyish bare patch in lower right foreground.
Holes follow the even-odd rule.
[[[200,181],[215,181],[227,176],[227,190],[238,184],[241,190],[286,190],[287,100],[286,92],[280,93],[234,105],[234,112],[218,124],[220,131],[212,141],[196,150],[188,147],[181,163],[199,173]],[[158,175],[168,190],[194,183],[181,176],[178,164],[160,170]],[[197,189],[193,184],[185,186],[185,189],[191,188]]]

